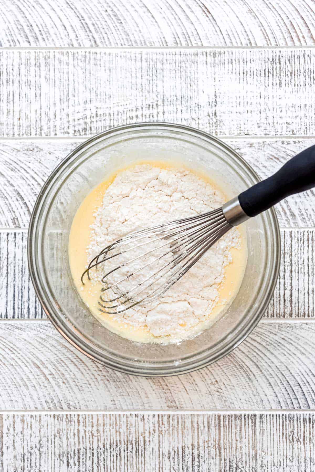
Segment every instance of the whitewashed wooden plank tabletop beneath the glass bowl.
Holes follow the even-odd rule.
[[[314,191],[277,206],[264,319],[179,377],[70,346],[34,295],[26,240],[51,170],[109,127],[195,126],[260,177],[315,143],[315,0],[0,0],[0,20],[0,471],[314,471]]]

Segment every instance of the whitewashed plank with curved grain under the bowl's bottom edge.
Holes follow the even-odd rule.
[[[210,367],[157,379],[97,364],[48,320],[0,323],[0,410],[315,408],[314,322],[264,321]]]

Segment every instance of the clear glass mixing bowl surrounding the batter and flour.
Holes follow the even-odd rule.
[[[77,147],[52,172],[35,203],[28,261],[36,294],[60,333],[95,361],[129,374],[166,376],[200,369],[228,354],[266,310],[279,272],[275,211],[249,219],[248,261],[238,295],[211,328],[180,344],[141,344],[96,320],[74,287],[68,261],[72,219],[87,194],[113,171],[137,160],[183,161],[224,182],[228,197],[259,181],[251,167],[219,139],[167,123],[120,126]]]

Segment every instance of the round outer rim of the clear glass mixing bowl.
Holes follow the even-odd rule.
[[[83,143],[80,143],[75,149],[68,153],[68,155],[53,169],[50,176],[44,183],[36,201],[34,204],[34,209],[32,211],[32,215],[30,218],[29,228],[28,228],[28,236],[27,236],[27,259],[28,259],[28,267],[31,276],[31,280],[35,289],[35,293],[43,307],[44,312],[46,313],[48,319],[52,322],[53,326],[60,332],[60,334],[67,339],[73,346],[75,346],[81,353],[85,354],[86,356],[90,357],[96,362],[101,363],[102,365],[114,369],[116,371],[124,372],[131,375],[143,376],[143,377],[167,377],[172,375],[180,375],[188,372],[192,372],[202,367],[206,367],[207,365],[212,364],[213,362],[218,361],[226,354],[229,354],[233,351],[255,328],[257,323],[261,320],[264,315],[264,312],[272,298],[274,288],[277,283],[277,279],[279,276],[280,270],[280,254],[281,254],[281,236],[280,236],[280,228],[279,222],[276,216],[276,212],[272,207],[268,210],[269,218],[271,221],[271,227],[274,231],[275,236],[275,257],[274,257],[274,264],[272,276],[270,277],[269,284],[264,291],[264,297],[262,299],[261,305],[257,308],[255,312],[255,316],[251,317],[247,320],[244,329],[241,332],[238,332],[235,337],[232,337],[230,341],[225,343],[225,346],[221,348],[218,354],[215,355],[215,358],[208,357],[206,359],[202,359],[202,361],[194,362],[192,365],[185,365],[185,367],[179,362],[178,365],[174,365],[173,368],[170,370],[168,368],[167,371],[163,371],[163,368],[160,367],[158,369],[154,368],[143,369],[143,368],[130,368],[126,367],[126,365],[122,365],[119,362],[112,362],[108,357],[101,356],[98,354],[96,348],[93,348],[89,345],[86,341],[82,341],[82,339],[74,333],[73,330],[70,330],[65,322],[62,321],[61,316],[55,316],[53,313],[50,312],[48,306],[45,302],[45,295],[44,290],[41,285],[41,276],[37,271],[36,268],[36,258],[35,258],[35,250],[34,250],[34,237],[33,235],[36,233],[36,224],[37,219],[40,214],[40,210],[42,207],[42,203],[45,200],[45,197],[49,194],[49,187],[51,183],[54,181],[55,177],[58,176],[61,169],[63,169],[69,160],[71,160],[79,151],[85,149],[90,144],[93,144],[99,139],[106,137],[107,135],[111,135],[112,133],[124,131],[124,130],[132,130],[135,128],[149,128],[149,127],[162,127],[162,128],[172,128],[173,130],[180,130],[180,131],[187,131],[198,137],[204,137],[207,140],[211,140],[214,143],[219,144],[222,148],[226,149],[229,153],[231,153],[241,164],[241,166],[251,174],[251,176],[257,181],[260,181],[260,178],[256,174],[255,170],[244,160],[238,152],[236,152],[232,147],[228,144],[221,141],[221,139],[213,136],[205,131],[198,130],[192,126],[176,124],[176,123],[168,123],[168,122],[159,122],[159,121],[148,121],[148,122],[139,122],[139,123],[130,123],[127,125],[115,126],[108,130],[102,131],[97,135],[88,138]],[[238,330],[239,331],[239,330]],[[184,368],[183,368],[184,367]]]

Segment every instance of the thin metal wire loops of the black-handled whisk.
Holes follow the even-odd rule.
[[[152,301],[161,296],[230,228],[231,225],[225,218],[222,209],[218,209],[195,217],[179,219],[137,231],[105,247],[90,261],[87,269],[82,274],[81,281],[84,284],[85,275],[90,279],[90,270],[97,269],[101,264],[106,262],[111,264],[115,257],[118,256],[118,259],[121,256],[125,258],[128,253],[135,254],[140,248],[143,248],[143,253],[136,255],[129,261],[118,263],[102,277],[102,283],[106,286],[102,288],[102,294],[104,292],[109,293],[111,290],[114,298],[105,299],[101,295],[100,311],[109,314],[125,312],[139,303]],[[141,240],[145,241],[139,244]],[[162,242],[162,244],[155,247],[158,242]],[[130,244],[132,246],[128,247]],[[153,257],[153,260],[145,261],[148,256],[150,257],[151,254],[161,249],[163,250],[161,255],[156,258]],[[115,250],[118,250],[118,252],[112,253]],[[128,270],[129,267],[132,267],[132,263],[142,259],[144,259],[144,263],[129,273]],[[162,263],[163,259],[165,263],[156,270],[156,266]],[[128,285],[124,287],[130,278],[134,276],[138,278],[150,267],[151,270],[144,280],[138,281],[136,279],[131,287]],[[116,279],[109,281],[109,276],[114,275],[119,269],[125,270],[123,277],[119,277],[118,281]],[[109,304],[113,302],[116,302],[116,304]]]

